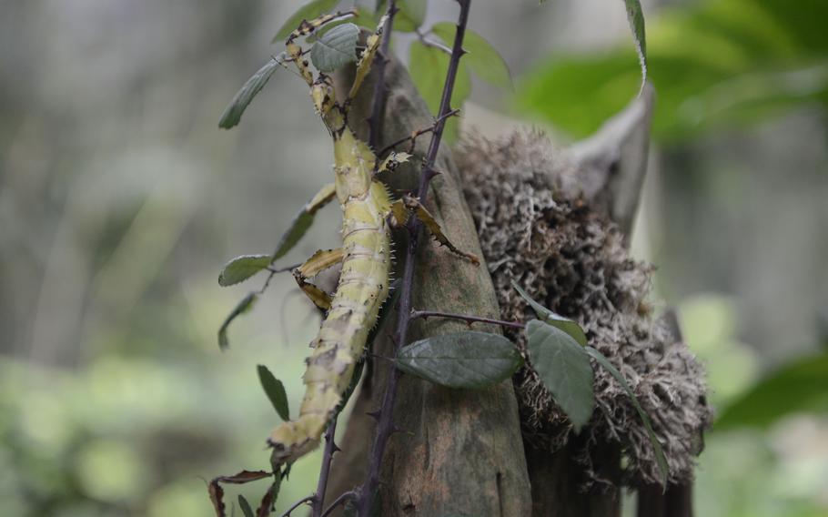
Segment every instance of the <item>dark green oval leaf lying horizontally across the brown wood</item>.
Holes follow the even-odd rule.
[[[498,334],[457,332],[403,347],[399,370],[449,388],[485,388],[509,379],[523,360],[517,347]]]

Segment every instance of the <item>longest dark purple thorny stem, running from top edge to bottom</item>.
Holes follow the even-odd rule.
[[[446,74],[443,94],[440,98],[437,123],[434,125],[434,131],[431,133],[429,152],[426,155],[426,161],[419,177],[417,196],[420,203],[425,202],[431,178],[438,174],[438,172],[434,170],[434,163],[437,160],[439,143],[443,137],[443,129],[446,126],[446,114],[451,111],[451,93],[454,90],[454,81],[457,77],[460,57],[465,54],[465,51],[463,50],[463,36],[466,33],[466,25],[469,22],[469,8],[471,0],[457,1],[460,6],[460,13],[457,22],[457,33],[454,36],[454,45],[451,48],[449,71]],[[405,269],[403,269],[402,275],[402,290],[400,291],[399,296],[399,319],[397,320],[397,332],[394,344],[395,349],[399,349],[399,347],[406,342],[409,333],[409,323],[411,321],[411,292],[414,286],[414,262],[415,255],[417,253],[419,236],[422,231],[422,224],[419,222],[418,218],[411,218],[407,228],[409,229],[409,246],[405,261]],[[401,373],[399,370],[391,370],[391,374],[389,375],[389,383],[382,398],[382,406],[379,410],[377,430],[374,434],[374,443],[371,449],[368,479],[366,479],[362,487],[359,489],[357,506],[358,515],[361,517],[368,517],[370,514],[371,506],[374,502],[374,492],[377,491],[377,487],[379,485],[379,467],[382,463],[382,456],[385,452],[389,436],[394,431],[392,413],[394,410],[394,400],[397,396],[397,383],[400,375]]]

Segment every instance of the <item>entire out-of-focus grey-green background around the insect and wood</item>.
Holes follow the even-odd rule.
[[[633,249],[722,416],[697,512],[828,514],[828,2],[643,4],[658,106]],[[217,119],[298,5],[0,3],[3,515],[208,515],[206,479],[267,468],[256,364],[296,407],[318,319],[276,278],[220,353],[247,288],[217,272],[269,252],[332,157],[287,73],[233,131]],[[431,0],[426,26],[454,15]],[[485,135],[520,121],[566,142],[637,91],[619,0],[475,0],[470,26],[516,77],[474,83],[464,125]],[[324,210],[285,264],[336,228]],[[317,470],[298,462],[279,506]]]

